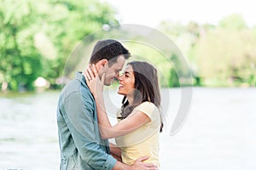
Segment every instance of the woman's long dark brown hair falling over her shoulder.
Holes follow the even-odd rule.
[[[144,61],[131,61],[127,65],[131,65],[135,77],[133,104],[129,105],[129,101],[124,97],[122,100],[121,116],[125,118],[131,114],[131,111],[145,101],[151,102],[160,109],[160,88],[157,76],[157,70],[153,65]],[[129,105],[129,106],[128,106]],[[163,128],[162,116],[160,132]]]

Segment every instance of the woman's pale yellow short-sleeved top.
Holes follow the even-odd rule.
[[[145,162],[152,162],[160,167],[159,109],[151,102],[143,102],[141,105],[137,105],[129,116],[136,114],[136,111],[142,111],[151,119],[151,122],[145,123],[135,131],[115,139],[116,144],[122,151],[122,160],[125,164],[132,165],[138,158],[150,156]],[[120,111],[118,116],[120,116]]]

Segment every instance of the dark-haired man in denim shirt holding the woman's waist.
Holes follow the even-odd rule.
[[[120,42],[108,39],[96,42],[90,56],[90,64],[96,65],[100,77],[105,75],[104,84],[110,85],[123,68],[125,59],[129,57],[129,51]],[[110,155],[110,152],[113,152],[119,156],[119,150],[110,150],[108,140],[101,138],[96,103],[81,72],[78,72],[76,78],[68,82],[61,92],[57,124],[61,170],[154,169],[154,165],[143,163],[147,157],[127,166]]]

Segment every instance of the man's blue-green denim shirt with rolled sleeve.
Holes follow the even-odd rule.
[[[110,170],[116,164],[108,140],[99,133],[96,103],[80,72],[60,94],[57,124],[61,170]]]

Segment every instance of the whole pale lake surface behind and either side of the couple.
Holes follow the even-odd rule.
[[[0,169],[59,169],[55,110],[59,92],[0,98]],[[193,88],[189,117],[170,135],[182,101],[180,88],[162,89],[165,132],[161,169],[256,169],[255,88]],[[108,111],[120,96],[105,94]],[[111,104],[111,105],[110,105]],[[109,114],[111,122],[113,115]]]

